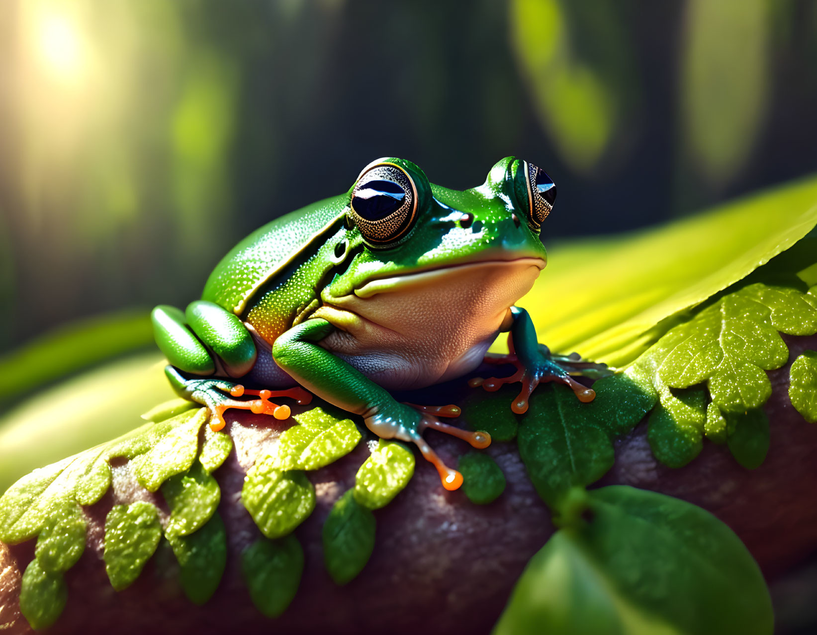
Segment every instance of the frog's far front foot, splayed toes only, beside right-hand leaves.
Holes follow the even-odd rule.
[[[485,362],[489,364],[511,364],[516,366],[516,372],[510,377],[491,377],[484,379],[474,377],[468,381],[471,388],[482,386],[489,392],[500,389],[505,384],[515,384],[521,382],[522,389],[511,403],[511,411],[521,415],[528,411],[528,400],[534,389],[546,381],[558,381],[566,384],[573,390],[578,400],[583,403],[592,402],[596,397],[596,392],[592,388],[587,388],[570,375],[584,375],[594,379],[609,374],[605,364],[595,364],[583,362],[578,353],[569,355],[553,355],[546,346],[539,345],[533,357],[527,363],[520,361],[514,351],[508,355],[486,357]]]

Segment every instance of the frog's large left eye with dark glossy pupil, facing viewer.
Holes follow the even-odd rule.
[[[417,189],[394,163],[364,171],[352,190],[350,216],[366,242],[386,246],[411,229],[417,215]]]

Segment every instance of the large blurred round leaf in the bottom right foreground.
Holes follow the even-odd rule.
[[[587,513],[529,562],[494,635],[770,635],[757,563],[729,527],[628,486],[587,492]]]

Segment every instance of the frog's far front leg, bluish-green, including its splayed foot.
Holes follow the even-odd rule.
[[[491,377],[484,380],[475,377],[469,381],[472,387],[482,386],[485,390],[498,390],[504,384],[522,383],[519,395],[511,403],[511,410],[517,415],[528,411],[528,399],[538,384],[545,381],[559,381],[567,384],[580,402],[592,402],[596,392],[579,384],[571,377],[586,375],[597,378],[609,374],[605,364],[583,362],[577,353],[571,355],[554,355],[547,346],[539,344],[534,322],[531,321],[525,309],[511,307],[511,332],[508,337],[509,355],[485,357],[486,362],[511,363],[516,366],[516,373],[510,377]]]

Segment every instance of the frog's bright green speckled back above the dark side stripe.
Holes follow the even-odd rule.
[[[342,222],[346,194],[326,198],[256,229],[221,259],[202,293],[203,300],[239,315],[252,295],[281,269],[307,255]]]

